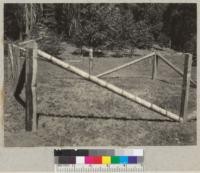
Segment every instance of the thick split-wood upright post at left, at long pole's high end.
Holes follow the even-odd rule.
[[[37,75],[37,44],[34,42],[32,48],[26,52],[26,122],[27,131],[37,130],[36,111],[36,75]]]

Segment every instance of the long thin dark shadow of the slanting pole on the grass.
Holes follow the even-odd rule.
[[[57,117],[57,118],[77,118],[77,119],[100,119],[100,120],[119,120],[119,121],[151,121],[151,122],[176,122],[174,120],[170,119],[149,119],[149,118],[126,118],[126,117],[102,117],[102,116],[94,116],[91,115],[60,115],[60,114],[45,114],[45,113],[37,113],[38,118],[39,117]]]

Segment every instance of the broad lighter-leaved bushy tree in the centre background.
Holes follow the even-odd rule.
[[[154,41],[145,18],[136,22],[129,4],[82,5],[79,21],[73,37],[77,45],[146,48]]]

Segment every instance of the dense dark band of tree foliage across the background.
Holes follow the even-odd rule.
[[[48,6],[54,12],[55,26],[52,28],[56,28],[57,34],[62,34],[66,41],[77,46],[132,49],[150,48],[153,44],[159,44],[196,54],[196,4]],[[45,18],[37,9],[34,14],[40,16],[40,19]],[[6,38],[19,39],[20,33],[25,32],[24,4],[6,4],[4,15]]]

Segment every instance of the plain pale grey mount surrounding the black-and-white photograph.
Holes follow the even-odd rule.
[[[0,45],[0,172],[1,171],[47,171],[53,172],[54,168],[54,156],[53,150],[58,148],[73,148],[74,147],[4,147],[4,134],[3,134],[3,104],[4,104],[4,63],[3,63],[3,5],[4,3],[45,3],[44,0],[33,0],[33,1],[12,1],[6,0],[0,3],[0,34],[1,34],[1,45]],[[80,3],[80,2],[109,2],[109,3],[197,3],[197,43],[200,41],[199,27],[200,27],[200,4],[198,1],[189,0],[140,0],[140,1],[108,1],[108,0],[96,0],[96,1],[48,1],[48,3]],[[200,55],[200,45],[197,44],[197,55]],[[200,59],[197,59],[197,105],[200,105]],[[197,106],[197,117],[199,117],[199,107]],[[195,146],[133,146],[132,148],[143,148],[144,149],[144,169],[145,171],[200,171],[200,143],[199,143],[199,132],[200,121],[197,118],[197,145]],[[80,148],[115,148],[116,147],[91,147],[85,146]],[[123,148],[123,147],[121,147]],[[131,147],[129,147],[131,148]]]

